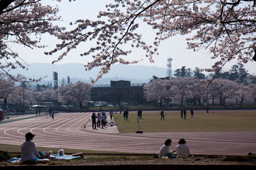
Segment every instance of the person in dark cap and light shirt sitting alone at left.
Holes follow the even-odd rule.
[[[35,137],[32,133],[26,133],[26,142],[24,142],[20,148],[21,148],[21,159],[20,162],[24,161],[35,161],[35,159],[40,158],[39,152],[36,149],[35,143],[32,142],[33,137]]]

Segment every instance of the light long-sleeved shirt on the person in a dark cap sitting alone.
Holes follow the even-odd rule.
[[[20,162],[29,161],[31,159],[38,159],[39,153],[36,149],[35,143],[29,141],[24,142],[21,146]]]

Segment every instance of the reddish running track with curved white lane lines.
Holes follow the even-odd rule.
[[[158,153],[167,138],[185,137],[192,154],[247,155],[256,153],[256,131],[173,132],[173,133],[111,133],[108,129],[80,129],[91,113],[62,113],[51,118],[28,118],[0,124],[0,143],[21,145],[24,134],[36,134],[36,146],[133,153]],[[97,131],[97,132],[95,132]],[[0,149],[1,150],[1,149]]]

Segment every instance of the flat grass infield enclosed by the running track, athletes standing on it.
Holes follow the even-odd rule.
[[[168,131],[256,131],[256,110],[234,111],[194,111],[191,118],[187,111],[186,120],[180,117],[180,111],[164,111],[166,120],[160,120],[159,111],[143,111],[139,120],[143,132]],[[137,113],[129,112],[129,121],[124,121],[123,113],[114,114],[120,133],[134,133],[138,130]]]

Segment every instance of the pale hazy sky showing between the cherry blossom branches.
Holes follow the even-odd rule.
[[[58,21],[58,25],[69,27],[70,21],[74,22],[77,19],[89,19],[96,20],[96,15],[98,11],[102,11],[105,9],[105,5],[112,2],[110,0],[93,0],[93,1],[85,1],[85,0],[76,0],[69,2],[67,0],[63,0],[62,2],[57,1],[43,1],[48,5],[58,5],[60,8],[59,15],[62,16],[63,21]],[[46,5],[44,4],[44,5]],[[152,30],[141,27],[140,28],[143,33],[145,33],[146,41],[151,41]],[[162,41],[160,47],[158,49],[159,55],[154,57],[154,63],[150,63],[148,59],[145,57],[145,53],[142,50],[135,49],[129,56],[127,56],[128,60],[141,60],[138,65],[146,65],[146,66],[158,66],[160,68],[167,68],[167,59],[171,57],[173,60],[171,62],[173,70],[180,69],[182,66],[186,66],[186,68],[191,68],[192,70],[196,67],[204,69],[211,68],[211,65],[214,64],[214,60],[210,59],[211,54],[208,53],[207,50],[200,50],[199,52],[193,52],[193,50],[186,49],[186,38],[189,36],[176,36],[171,37],[166,41]],[[43,52],[49,52],[49,50],[54,49],[57,40],[53,37],[49,37],[47,35],[42,36],[42,42],[48,44],[46,49],[29,49],[23,46],[13,45],[14,51],[20,54],[20,57],[26,63],[51,63],[52,60],[58,58],[58,54],[54,54],[53,56],[46,56]],[[67,56],[64,57],[61,62],[55,64],[63,64],[63,63],[87,63],[90,59],[88,57],[81,57],[79,54],[83,53],[84,47],[90,46],[89,43],[85,44],[82,47],[78,47],[77,49],[71,51]],[[60,53],[59,53],[60,54]],[[223,70],[227,71],[230,69],[232,65],[236,64],[236,60],[227,63]],[[249,62],[245,64],[245,69],[248,70],[249,73],[256,75],[256,62]],[[83,70],[82,70],[83,71]]]

